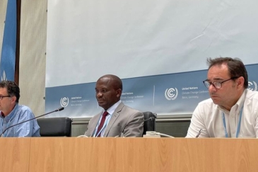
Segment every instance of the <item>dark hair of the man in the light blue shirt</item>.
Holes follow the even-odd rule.
[[[13,81],[1,81],[0,82],[1,88],[6,88],[8,96],[16,96],[16,102],[19,102],[20,98],[20,88],[18,85]]]

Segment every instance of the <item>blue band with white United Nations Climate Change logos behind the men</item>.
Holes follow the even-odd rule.
[[[247,65],[249,89],[257,91],[258,64]],[[131,108],[158,115],[192,114],[200,101],[209,98],[203,82],[207,70],[122,79],[121,100]],[[59,106],[65,110],[47,117],[92,117],[100,112],[95,82],[46,88],[46,112]]]

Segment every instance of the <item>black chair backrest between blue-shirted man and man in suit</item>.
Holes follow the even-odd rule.
[[[69,117],[38,118],[41,137],[71,137],[71,122]]]

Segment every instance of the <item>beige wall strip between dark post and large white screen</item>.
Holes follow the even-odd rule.
[[[20,16],[20,104],[39,116],[45,113],[47,0],[21,1]]]

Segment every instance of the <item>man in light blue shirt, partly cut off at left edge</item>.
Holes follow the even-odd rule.
[[[40,137],[37,120],[30,120],[35,117],[33,112],[25,105],[18,105],[19,98],[20,88],[13,81],[0,82],[1,137]],[[25,120],[30,121],[16,125]]]

